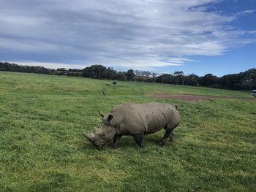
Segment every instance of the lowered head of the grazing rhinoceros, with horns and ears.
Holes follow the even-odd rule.
[[[94,128],[93,134],[83,133],[83,136],[88,139],[95,147],[103,147],[110,142],[116,134],[116,129],[110,125],[110,120],[113,115],[104,115],[102,117],[102,126],[100,128]]]

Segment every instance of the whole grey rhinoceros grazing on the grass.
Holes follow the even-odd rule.
[[[82,133],[95,147],[103,147],[113,140],[113,148],[116,148],[123,135],[131,135],[140,147],[144,147],[143,135],[162,128],[166,131],[159,145],[165,145],[167,139],[173,141],[173,129],[180,123],[178,106],[165,103],[124,103],[113,107],[107,115],[100,115],[102,126],[94,128],[93,134]]]

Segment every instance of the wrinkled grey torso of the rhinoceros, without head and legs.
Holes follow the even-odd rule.
[[[120,104],[111,110],[111,124],[120,134],[151,134],[165,126],[179,123],[178,111],[170,104]]]

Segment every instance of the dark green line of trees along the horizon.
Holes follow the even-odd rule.
[[[196,74],[184,74],[176,71],[173,74],[156,74],[151,72],[134,71],[117,72],[113,68],[102,65],[92,65],[85,69],[47,69],[43,66],[20,66],[7,62],[0,62],[0,71],[29,72],[39,74],[67,75],[75,77],[89,77],[99,80],[122,80],[139,82],[160,82],[176,85],[206,86],[211,88],[225,88],[233,90],[256,89],[256,69],[249,69],[238,74],[227,74],[217,77],[214,74],[206,74],[199,77]]]

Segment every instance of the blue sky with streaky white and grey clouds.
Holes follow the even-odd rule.
[[[0,61],[217,76],[256,67],[256,0],[1,0]]]

